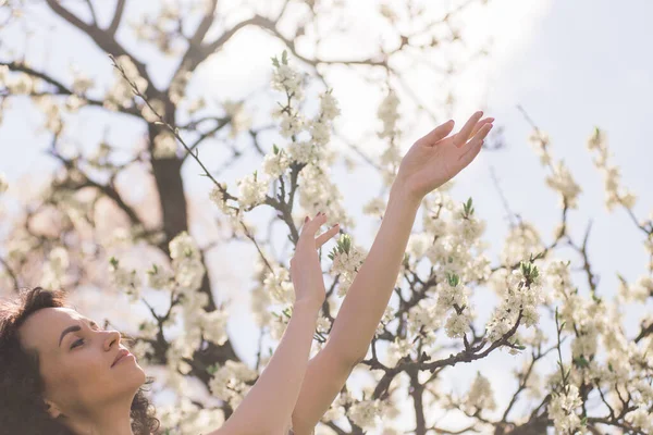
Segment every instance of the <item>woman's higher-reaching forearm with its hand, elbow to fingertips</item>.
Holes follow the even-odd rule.
[[[354,278],[329,336],[331,349],[359,362],[374,337],[394,288],[423,197],[463,171],[479,153],[494,119],[476,112],[459,133],[446,122],[418,139],[402,159],[372,248]],[[473,136],[469,144],[467,142]]]

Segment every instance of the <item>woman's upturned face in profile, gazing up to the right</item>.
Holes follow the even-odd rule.
[[[111,366],[124,345],[120,333],[102,331],[70,308],[36,311],[19,331],[23,348],[39,355],[45,398],[66,417],[94,418],[103,409],[128,410],[145,372],[135,358]]]

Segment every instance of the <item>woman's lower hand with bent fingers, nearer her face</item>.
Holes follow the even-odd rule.
[[[326,222],[326,215],[318,213],[313,220],[305,220],[299,239],[295,246],[295,254],[291,260],[291,279],[295,288],[295,303],[308,303],[318,310],[326,298],[324,278],[317,249],[326,240],[338,233],[338,225],[334,225],[315,237],[316,232]]]

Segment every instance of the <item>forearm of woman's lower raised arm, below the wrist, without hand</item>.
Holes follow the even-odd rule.
[[[313,306],[295,303],[274,355],[225,423],[237,427],[233,433],[280,434],[287,424],[308,365],[318,313]]]

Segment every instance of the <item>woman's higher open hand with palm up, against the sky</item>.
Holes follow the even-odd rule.
[[[492,129],[494,119],[479,121],[482,115],[482,111],[476,112],[455,135],[447,137],[455,124],[451,120],[418,139],[402,159],[395,183],[421,201],[431,190],[453,178],[477,157]]]

